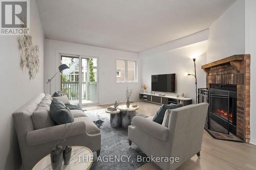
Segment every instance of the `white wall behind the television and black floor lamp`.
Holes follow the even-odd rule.
[[[201,66],[206,63],[207,41],[198,42],[184,47],[176,48],[163,53],[142,57],[142,82],[148,85],[147,92],[151,92],[151,75],[172,74],[177,76],[176,93],[184,92],[185,98],[196,100],[196,85],[193,76],[184,76],[185,72],[194,74],[194,62],[190,56],[199,55],[196,59],[198,88],[206,87],[206,75]],[[162,93],[162,92],[161,92]],[[169,95],[175,95],[169,93]]]

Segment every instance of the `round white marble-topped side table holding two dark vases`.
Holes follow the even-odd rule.
[[[93,152],[87,148],[82,146],[74,146],[72,147],[70,163],[68,165],[64,165],[62,162],[61,169],[76,169],[76,170],[89,170],[93,163]],[[51,154],[42,158],[39,162],[35,164],[32,170],[41,170],[47,169],[51,170]]]

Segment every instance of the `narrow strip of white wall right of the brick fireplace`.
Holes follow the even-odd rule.
[[[256,1],[245,2],[245,53],[251,55],[250,143],[256,145]]]

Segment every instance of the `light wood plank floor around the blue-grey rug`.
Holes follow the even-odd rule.
[[[140,109],[139,113],[153,116],[160,105],[137,102]],[[87,110],[108,108],[111,105],[87,107]],[[154,163],[146,163],[136,170],[158,170]],[[189,159],[178,170],[255,170],[256,169],[256,146],[249,143],[239,143],[212,138],[206,131],[203,134],[201,157],[197,155]]]

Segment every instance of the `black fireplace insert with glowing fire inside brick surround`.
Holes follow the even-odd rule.
[[[237,86],[210,84],[198,90],[199,103],[208,102],[205,127],[209,130],[237,134]]]

